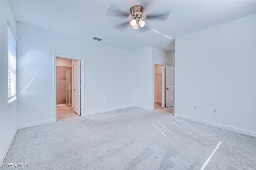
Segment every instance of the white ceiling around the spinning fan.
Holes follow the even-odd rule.
[[[124,20],[106,16],[106,12],[112,4],[129,13],[130,7],[143,3],[145,2],[133,0],[9,1],[14,17],[19,23],[90,41],[95,41],[92,40],[92,37],[99,37],[103,40],[98,43],[132,51],[150,46],[164,50],[172,49],[175,47],[175,43],[172,41],[178,37],[256,12],[255,0],[153,1],[144,9],[144,13],[170,10],[170,15],[163,23],[146,20],[146,25],[155,31],[144,33],[138,33],[130,25],[124,32],[118,31],[112,26]],[[163,35],[172,37],[172,39]]]

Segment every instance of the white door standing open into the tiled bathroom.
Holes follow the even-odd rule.
[[[74,111],[81,115],[81,64],[80,60],[74,64]]]

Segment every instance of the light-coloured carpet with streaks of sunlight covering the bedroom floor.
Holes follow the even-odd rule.
[[[173,111],[132,107],[19,129],[4,163],[31,170],[198,170],[221,141],[205,169],[256,169],[255,137],[177,119]]]

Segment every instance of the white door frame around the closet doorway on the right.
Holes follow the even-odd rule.
[[[159,63],[154,63],[154,68],[153,68],[153,104],[152,108],[155,109],[155,65],[160,65],[162,66],[162,100],[161,100],[161,107],[165,107],[165,64],[159,64]]]

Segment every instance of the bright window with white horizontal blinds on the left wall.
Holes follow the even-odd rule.
[[[16,37],[9,22],[7,27],[8,101],[12,101],[16,99]]]

